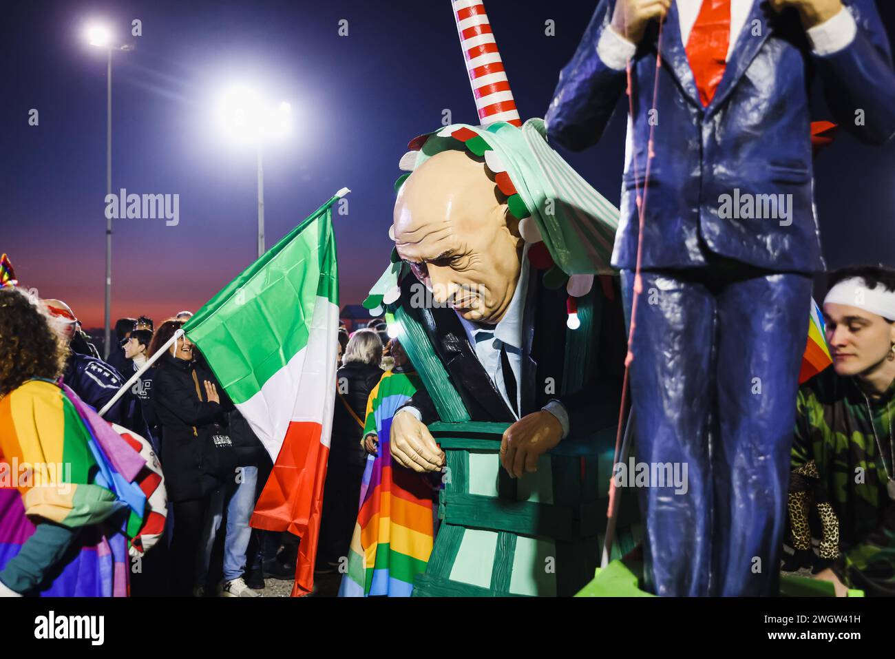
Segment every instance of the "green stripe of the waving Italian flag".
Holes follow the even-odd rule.
[[[332,197],[211,298],[183,329],[234,403],[308,343],[317,297],[338,304]]]

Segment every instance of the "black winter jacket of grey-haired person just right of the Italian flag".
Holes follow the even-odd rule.
[[[361,446],[362,426],[345,407],[345,402],[363,422],[367,415],[367,398],[379,384],[383,371],[379,366],[350,362],[336,373],[336,412],[329,447],[329,466],[363,466],[367,460]]]

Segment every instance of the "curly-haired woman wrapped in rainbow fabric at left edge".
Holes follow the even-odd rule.
[[[39,301],[0,288],[0,596],[127,595],[146,463],[57,384],[65,356]]]

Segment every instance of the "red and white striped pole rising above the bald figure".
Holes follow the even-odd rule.
[[[452,4],[479,121],[483,125],[505,121],[521,126],[522,119],[509,89],[507,72],[491,32],[485,5],[482,0],[452,0]]]

